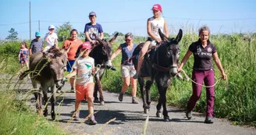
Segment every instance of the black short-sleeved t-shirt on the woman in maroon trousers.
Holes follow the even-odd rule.
[[[201,40],[190,44],[190,52],[194,55],[193,69],[208,70],[212,69],[212,54],[216,52],[215,45],[208,41],[208,44],[203,48]]]

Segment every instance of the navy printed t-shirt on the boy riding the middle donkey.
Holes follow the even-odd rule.
[[[91,23],[87,23],[85,24],[84,27],[84,33],[88,32],[89,37],[91,38],[91,40],[95,40],[96,37],[93,36],[93,34],[96,34],[96,36],[100,36],[101,33],[103,33],[101,24],[96,23],[95,25],[92,25]],[[85,37],[85,41],[89,41],[86,37]]]

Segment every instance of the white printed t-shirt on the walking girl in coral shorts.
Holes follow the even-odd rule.
[[[94,77],[91,75],[92,69],[94,69],[94,59],[89,57],[79,58],[76,60],[74,69],[77,69],[76,84],[84,85],[85,83],[93,83]]]

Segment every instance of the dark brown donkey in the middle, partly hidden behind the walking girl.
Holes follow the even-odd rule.
[[[112,43],[116,40],[116,37],[119,33],[116,33],[112,39],[109,41],[101,40],[99,37],[94,35],[96,37],[96,40],[98,41],[97,45],[94,45],[94,48],[91,50],[89,56],[94,59],[94,64],[97,67],[98,65],[101,66],[101,68],[98,70],[98,73],[95,74],[95,85],[94,85],[94,102],[100,102],[100,105],[104,105],[104,97],[102,94],[102,84],[101,84],[101,78],[103,74],[105,73],[105,69],[112,68],[112,63],[108,61],[111,56],[112,52]],[[100,94],[100,100],[98,100],[98,91]]]

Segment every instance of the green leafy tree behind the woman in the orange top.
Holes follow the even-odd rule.
[[[69,22],[66,22],[61,26],[56,27],[59,41],[65,41],[69,37],[71,30],[72,30],[72,25]]]

